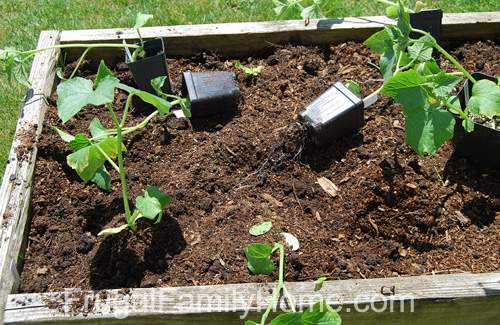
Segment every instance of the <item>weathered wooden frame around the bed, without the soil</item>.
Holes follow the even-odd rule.
[[[361,41],[385,24],[386,17],[359,17],[333,20],[232,23],[144,28],[145,38],[165,37],[169,56],[191,56],[208,50],[221,56],[254,55],[275,44],[331,44],[347,40]],[[448,42],[500,37],[500,12],[445,14],[442,39]],[[130,29],[43,31],[38,47],[64,43],[132,42]],[[78,51],[67,51],[71,58]],[[206,287],[104,290],[95,292],[16,294],[18,270],[24,255],[33,170],[37,141],[47,109],[42,96],[54,88],[59,50],[36,55],[30,80],[34,96],[21,107],[14,142],[0,190],[0,306],[5,323],[86,323],[106,324],[242,324],[239,314],[250,310],[253,319],[270,298],[269,284],[237,284]],[[115,51],[93,50],[93,55],[116,59]],[[14,109],[14,108],[12,108]],[[26,139],[30,139],[26,143]],[[20,148],[23,148],[22,155]],[[26,151],[26,148],[29,150]],[[492,243],[495,244],[495,243]],[[297,307],[305,307],[320,297],[332,305],[351,308],[356,305],[408,301],[414,299],[415,312],[347,313],[345,324],[401,323],[418,324],[493,323],[500,316],[500,272],[485,274],[446,274],[367,280],[343,280],[325,283],[314,291],[311,282],[290,283],[292,296],[301,296]],[[257,297],[262,299],[257,299]],[[72,298],[64,305],[64,297]],[[90,298],[89,298],[90,297]],[[67,299],[68,300],[68,299]],[[90,304],[85,306],[85,300]],[[214,303],[217,302],[217,303]],[[351,306],[351,307],[349,307]],[[398,309],[396,307],[395,309]],[[352,311],[352,309],[351,309]],[[128,316],[126,319],[117,317]],[[0,319],[0,321],[1,321]]]

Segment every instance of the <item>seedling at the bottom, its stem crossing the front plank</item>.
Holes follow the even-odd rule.
[[[285,284],[285,245],[295,246],[292,250],[296,250],[298,249],[298,241],[291,234],[283,233],[282,235],[285,243],[277,242],[274,243],[273,246],[269,244],[253,243],[247,245],[243,250],[247,258],[248,269],[253,274],[272,274],[275,269],[272,258],[276,252],[278,252],[279,255],[278,283],[273,291],[272,299],[265,312],[262,314],[260,322],[247,320],[245,321],[245,325],[340,325],[342,321],[339,314],[332,310],[325,301],[320,301],[303,312],[295,310],[295,303],[290,297]],[[291,312],[281,314],[268,323],[267,319],[269,315],[282,296],[285,303],[288,304],[288,307],[291,309]]]

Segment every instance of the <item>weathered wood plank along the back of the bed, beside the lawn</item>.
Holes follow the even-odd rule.
[[[185,56],[207,50],[221,56],[255,55],[272,44],[296,43],[303,45],[330,44],[348,40],[362,41],[394,21],[384,17],[347,17],[341,19],[315,19],[305,25],[303,20],[181,25],[146,27],[145,38],[165,37],[167,55]],[[496,39],[500,34],[500,12],[452,13],[443,18],[444,41]],[[128,28],[63,31],[62,43],[118,42],[137,40],[137,33]],[[94,53],[112,50],[96,49]],[[68,50],[74,58],[78,50]],[[116,53],[116,52],[114,52]],[[116,54],[115,54],[116,55]],[[113,55],[105,55],[111,59]]]

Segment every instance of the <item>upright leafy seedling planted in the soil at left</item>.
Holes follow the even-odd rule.
[[[186,99],[166,95],[160,91],[164,81],[164,77],[158,77],[152,81],[153,88],[158,90],[158,96],[155,96],[120,83],[104,62],[101,61],[94,82],[75,77],[63,81],[57,87],[59,95],[57,110],[62,123],[69,121],[86,105],[105,105],[114,122],[115,128],[106,129],[98,118],[94,118],[89,126],[91,137],[87,137],[85,134],[73,136],[55,128],[61,138],[74,150],[67,157],[67,163],[83,181],[91,181],[104,190],[111,190],[111,176],[106,169],[105,163],[108,163],[120,175],[126,224],[105,229],[99,235],[113,235],[125,229],[135,231],[137,221],[141,218],[158,223],[163,217],[163,209],[171,201],[170,196],[162,193],[157,187],[150,186],[144,191],[144,196],[136,198],[135,209],[131,210],[123,159],[123,153],[126,150],[123,138],[127,134],[145,128],[157,115],[168,115],[175,105],[180,105],[185,115],[190,116],[189,102]],[[128,93],[121,119],[112,107],[116,89]],[[151,104],[156,110],[137,125],[126,127],[127,116],[134,97]],[[167,98],[172,101],[168,101]]]

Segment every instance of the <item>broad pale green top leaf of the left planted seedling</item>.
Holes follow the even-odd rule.
[[[112,103],[118,83],[118,79],[108,76],[93,90],[92,81],[80,77],[61,82],[57,86],[59,118],[66,123],[86,105],[99,106]]]

